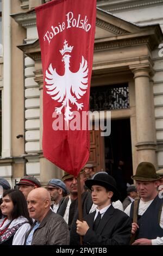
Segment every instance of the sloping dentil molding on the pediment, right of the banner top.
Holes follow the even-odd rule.
[[[110,24],[110,23],[108,23],[106,21],[100,20],[98,18],[96,18],[96,25],[98,27],[104,28],[104,29],[106,29],[106,31],[110,31],[110,32],[112,32],[112,33],[114,33],[116,35],[117,34],[121,35],[121,34],[128,33],[128,31],[126,31],[126,30],[124,30],[122,28],[119,28],[117,26],[114,26],[114,25],[112,25],[112,24]]]

